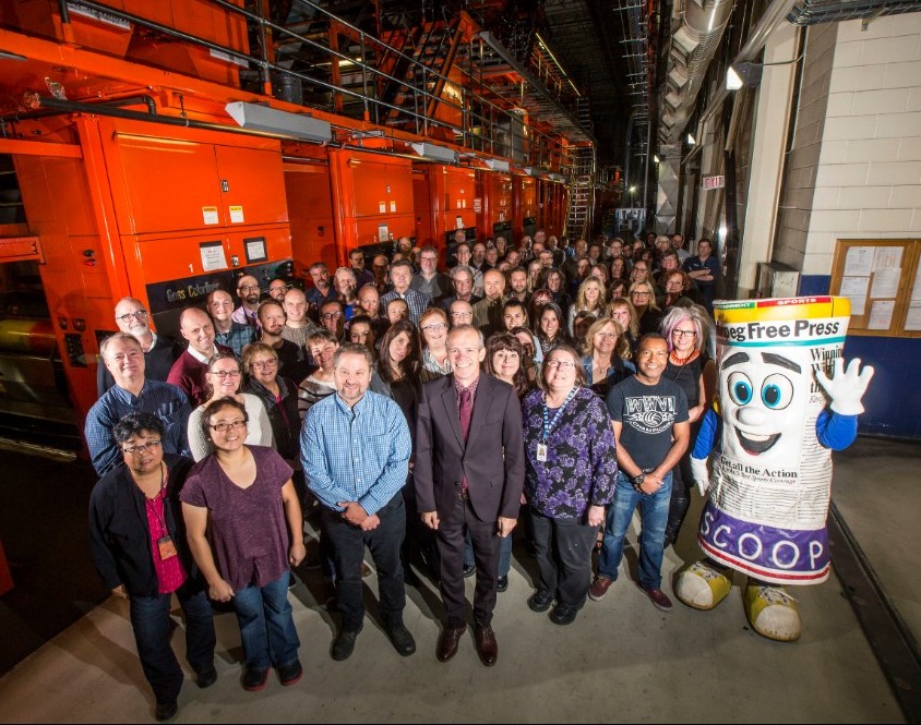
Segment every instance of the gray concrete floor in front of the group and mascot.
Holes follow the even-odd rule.
[[[919,462],[917,445],[861,439],[837,456],[835,482],[839,510],[916,632],[921,585],[910,519],[921,498]],[[696,558],[693,533],[686,527],[667,553],[668,582]],[[400,658],[369,619],[352,657],[333,662],[333,619],[298,584],[291,599],[304,678],[291,688],[272,678],[262,692],[244,692],[236,620],[218,615],[219,680],[208,690],[187,682],[177,722],[905,722],[834,575],[793,592],[803,637],[780,644],[750,630],[741,578],[714,612],[677,604],[665,614],[635,588],[629,552],[608,597],[560,628],[527,608],[523,563],[533,566],[517,559],[500,595],[493,668],[479,663],[471,636],[454,661],[435,660],[441,608],[431,588],[407,590],[414,656]],[[366,581],[373,592],[374,578]],[[671,593],[670,583],[665,589]],[[175,637],[181,651],[181,629]],[[151,722],[127,605],[108,600],[24,661],[0,680],[0,722]]]

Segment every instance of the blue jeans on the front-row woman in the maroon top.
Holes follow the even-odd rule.
[[[234,595],[248,669],[285,667],[298,658],[300,640],[288,602],[286,571],[262,588],[247,587]]]

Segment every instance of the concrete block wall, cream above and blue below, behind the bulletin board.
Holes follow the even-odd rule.
[[[809,29],[774,259],[828,292],[839,239],[921,238],[921,12]],[[876,367],[861,431],[921,438],[921,339],[850,336]]]

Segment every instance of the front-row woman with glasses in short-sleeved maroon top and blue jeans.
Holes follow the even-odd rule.
[[[208,403],[201,424],[214,452],[192,469],[180,500],[208,595],[234,604],[242,685],[252,692],[265,687],[270,667],[285,686],[303,674],[288,581],[304,547],[291,468],[274,449],[246,445],[248,419],[232,398]]]

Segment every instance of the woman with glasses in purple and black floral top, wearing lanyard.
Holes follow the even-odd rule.
[[[614,436],[605,403],[584,387],[578,353],[554,348],[538,376],[539,390],[524,400],[527,473],[525,494],[534,518],[540,568],[534,612],[571,624],[585,604],[591,580],[591,548],[618,474]]]

